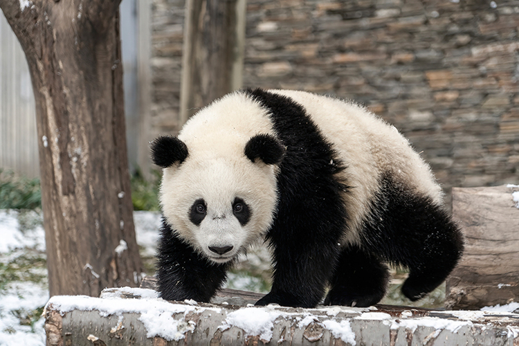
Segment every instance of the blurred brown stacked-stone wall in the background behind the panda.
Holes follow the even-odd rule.
[[[178,125],[183,1],[154,0],[154,129]],[[356,100],[452,186],[519,183],[519,1],[248,0],[244,86]]]

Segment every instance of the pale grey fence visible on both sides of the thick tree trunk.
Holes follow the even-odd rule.
[[[149,43],[145,42],[149,41],[149,6],[148,0],[125,0],[120,6],[130,170],[149,166],[147,154],[141,153],[148,151],[147,134],[140,133],[149,112]],[[141,52],[143,48],[147,52]],[[142,71],[138,71],[138,62]],[[33,86],[24,51],[0,13],[0,170],[39,176],[38,140]]]

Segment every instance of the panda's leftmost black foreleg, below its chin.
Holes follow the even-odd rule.
[[[206,260],[163,221],[157,249],[157,279],[161,298],[209,302],[224,284],[228,267],[229,264]]]

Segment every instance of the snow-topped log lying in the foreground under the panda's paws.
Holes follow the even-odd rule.
[[[47,345],[519,345],[518,313],[239,307],[167,302],[127,287],[54,296],[45,316]]]

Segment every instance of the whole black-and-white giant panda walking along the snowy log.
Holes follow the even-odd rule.
[[[367,307],[385,294],[388,264],[409,269],[402,291],[418,300],[462,255],[430,167],[395,127],[353,102],[235,91],[151,149],[163,167],[165,300],[208,302],[258,239],[271,247],[273,284],[257,305],[325,298]]]

